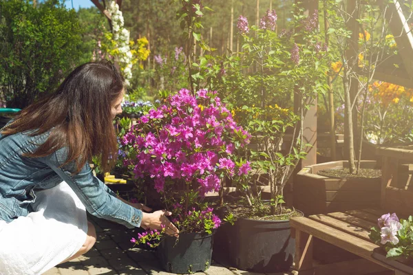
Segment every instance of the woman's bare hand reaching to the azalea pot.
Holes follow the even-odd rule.
[[[142,222],[140,223],[140,227],[144,229],[150,228],[162,230],[161,225],[165,225],[165,232],[169,236],[178,236],[178,228],[176,228],[176,226],[167,218],[167,216],[171,216],[171,214],[172,213],[167,210],[158,210],[153,213],[142,212]]]

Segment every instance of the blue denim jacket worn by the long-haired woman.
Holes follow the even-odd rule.
[[[67,148],[47,157],[23,156],[43,144],[48,133],[31,137],[27,133],[3,136],[0,133],[0,220],[10,222],[31,212],[36,191],[52,188],[61,181],[74,190],[87,212],[128,228],[140,226],[142,211],[127,205],[102,181],[94,177],[89,164],[79,173],[74,163],[66,164]]]

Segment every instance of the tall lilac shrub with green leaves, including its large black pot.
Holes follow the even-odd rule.
[[[253,173],[246,181],[235,182],[241,195],[224,205],[224,210],[237,217],[235,225],[223,226],[215,235],[220,241],[214,254],[224,251],[214,256],[215,261],[226,254],[231,265],[242,270],[286,271],[295,254],[289,218],[302,212],[291,203],[284,206],[284,191],[298,162],[306,156],[302,141],[306,109],[326,91],[323,57],[327,50],[315,28],[317,13],[306,17],[303,10],[297,10],[291,30],[279,34],[275,32],[275,10],[268,10],[260,25],[251,29],[246,17],[240,16],[237,28],[243,51],[218,59],[213,66],[221,65],[218,72],[210,70],[211,85],[231,102],[235,120],[251,133],[259,149],[244,151]],[[303,42],[298,43],[298,38]],[[298,99],[295,110],[293,94]],[[262,196],[262,186],[257,186],[257,175],[267,185],[268,201]]]

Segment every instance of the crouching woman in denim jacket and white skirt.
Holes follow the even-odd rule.
[[[92,156],[105,170],[114,163],[112,120],[124,92],[112,63],[86,63],[1,129],[0,274],[42,274],[90,250],[96,232],[85,211],[178,234],[170,212],[142,212],[150,209],[120,199],[92,175]]]

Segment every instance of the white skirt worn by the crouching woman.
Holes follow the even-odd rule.
[[[83,203],[65,181],[36,192],[34,212],[0,221],[0,274],[42,274],[73,256],[87,236]]]

